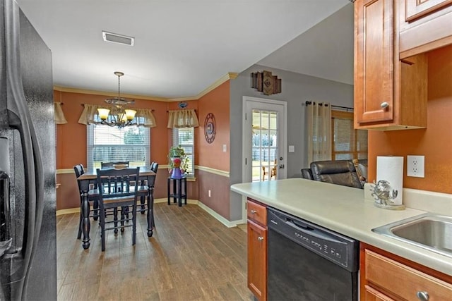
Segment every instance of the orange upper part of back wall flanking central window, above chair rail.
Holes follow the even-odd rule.
[[[54,91],[55,101],[63,103],[68,123],[57,125],[57,169],[73,168],[76,164],[86,166],[86,126],[78,123],[83,111],[82,104],[105,104],[106,96]],[[150,161],[167,164],[167,103],[135,99],[137,109],[153,109],[157,127],[150,135]]]

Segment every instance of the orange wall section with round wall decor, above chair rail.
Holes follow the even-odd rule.
[[[230,171],[230,81],[223,83],[198,100],[198,165]],[[215,116],[216,133],[212,143],[204,138],[204,121],[208,113]],[[226,152],[222,151],[226,145]]]

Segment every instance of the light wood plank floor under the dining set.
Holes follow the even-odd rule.
[[[227,228],[194,204],[155,204],[155,231],[138,214],[131,228],[107,231],[91,223],[91,246],[77,240],[78,214],[57,216],[58,300],[253,300],[246,288],[246,233]]]

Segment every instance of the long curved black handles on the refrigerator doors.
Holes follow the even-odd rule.
[[[23,235],[22,266],[18,273],[18,291],[15,299],[26,296],[28,271],[33,257],[33,250],[37,245],[42,223],[44,201],[44,171],[37,135],[28,111],[25,93],[23,91],[22,76],[20,74],[20,20],[19,6],[16,1],[5,1],[5,44],[6,44],[6,87],[8,121],[11,128],[18,129],[22,142],[23,162],[25,174],[25,228]],[[16,278],[16,277],[15,277]]]

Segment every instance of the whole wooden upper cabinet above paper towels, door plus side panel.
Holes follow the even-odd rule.
[[[355,2],[355,128],[427,126],[427,55],[399,59],[399,1]]]

